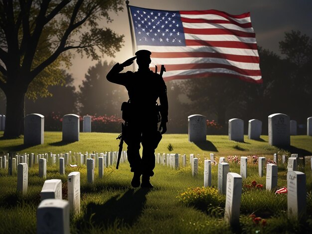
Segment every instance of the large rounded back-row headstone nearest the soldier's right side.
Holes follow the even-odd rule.
[[[202,115],[191,115],[188,118],[188,141],[206,142],[207,122]]]

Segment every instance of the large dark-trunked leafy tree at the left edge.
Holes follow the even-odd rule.
[[[122,0],[2,0],[0,2],[0,88],[6,96],[5,137],[22,134],[25,94],[48,95],[59,83],[70,51],[99,59],[114,56],[123,36],[99,21],[122,10]],[[42,89],[42,90],[41,90]]]

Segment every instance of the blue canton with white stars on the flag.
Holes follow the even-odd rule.
[[[185,46],[179,11],[130,6],[137,45]]]

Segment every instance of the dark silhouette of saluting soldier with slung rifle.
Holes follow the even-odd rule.
[[[134,172],[131,185],[135,188],[140,184],[142,188],[153,188],[150,177],[154,175],[155,149],[161,140],[161,134],[167,130],[167,88],[162,77],[149,68],[151,54],[148,50],[139,50],[135,57],[122,64],[115,64],[106,76],[108,81],[123,85],[128,90],[129,101],[122,105],[125,120],[123,138],[128,145],[128,161]],[[139,66],[137,72],[120,73],[135,59]],[[158,98],[160,106],[157,105]],[[141,143],[142,158],[139,152]]]

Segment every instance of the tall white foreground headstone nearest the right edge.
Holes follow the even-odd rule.
[[[300,171],[287,172],[288,217],[305,219],[307,213],[306,175]]]

